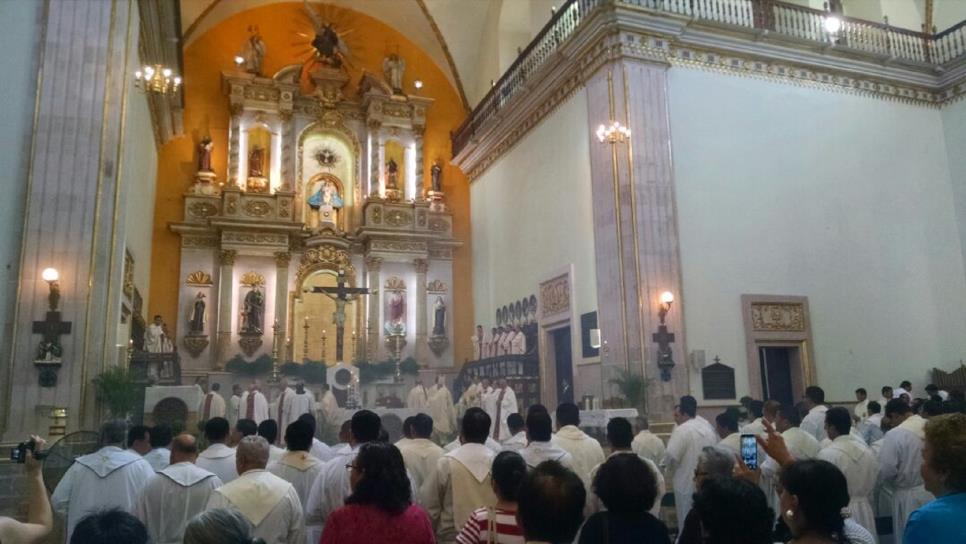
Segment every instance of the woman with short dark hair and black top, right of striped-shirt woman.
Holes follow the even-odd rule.
[[[612,455],[594,476],[594,493],[607,508],[587,519],[580,544],[670,544],[667,527],[649,510],[657,498],[657,479],[636,455]]]

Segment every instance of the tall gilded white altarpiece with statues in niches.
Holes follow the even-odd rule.
[[[211,170],[203,140],[184,219],[170,226],[181,236],[184,371],[273,351],[280,362],[413,356],[453,366],[461,243],[444,195],[429,190],[439,169],[423,168],[432,100],[369,73],[350,96],[346,72],[327,66],[308,74],[314,89],[304,93],[302,70],[222,74],[228,171]],[[368,294],[338,300],[340,279]]]

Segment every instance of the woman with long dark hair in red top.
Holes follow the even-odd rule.
[[[429,516],[413,504],[409,476],[396,446],[363,444],[346,470],[352,494],[325,521],[321,544],[436,541]]]

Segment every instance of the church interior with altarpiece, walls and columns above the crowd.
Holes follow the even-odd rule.
[[[687,395],[966,389],[966,2],[11,0],[0,28],[4,451],[195,432],[215,383],[393,441],[423,386],[455,436],[480,379],[665,440]]]

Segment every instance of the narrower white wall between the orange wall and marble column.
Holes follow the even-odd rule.
[[[475,321],[487,328],[498,307],[537,294],[539,282],[571,264],[576,315],[597,309],[584,94],[570,97],[470,186]],[[579,335],[579,323],[572,331]]]

